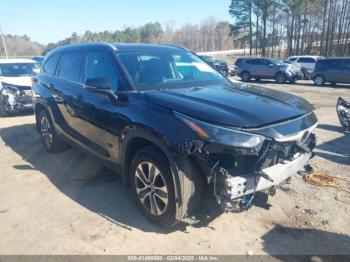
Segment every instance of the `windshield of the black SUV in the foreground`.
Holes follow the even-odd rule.
[[[141,90],[226,81],[220,73],[190,52],[122,52],[119,58],[135,86]]]

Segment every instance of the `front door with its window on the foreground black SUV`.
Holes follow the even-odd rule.
[[[121,99],[122,96],[114,93],[120,88],[121,80],[113,57],[103,51],[91,51],[87,54],[84,83],[104,79],[109,90],[84,85],[79,94],[82,108],[79,111],[79,129],[87,138],[90,148],[97,154],[118,162],[119,135],[126,123],[122,117],[126,102]]]

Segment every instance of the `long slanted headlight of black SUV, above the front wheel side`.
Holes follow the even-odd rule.
[[[236,129],[209,124],[192,117],[174,112],[175,116],[184,122],[202,139],[218,144],[252,149],[259,151],[265,138],[260,135],[242,132]],[[254,150],[253,150],[254,149]]]

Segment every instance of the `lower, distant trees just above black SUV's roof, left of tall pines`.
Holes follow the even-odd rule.
[[[48,44],[43,53],[46,54],[62,45],[99,41],[110,43],[167,43],[181,45],[196,52],[227,50],[233,48],[231,27],[230,23],[218,21],[215,18],[207,18],[200,24],[185,24],[181,27],[176,27],[175,22],[168,22],[164,25],[151,22],[139,27],[127,27],[114,32],[86,31],[83,35],[73,33],[62,41]]]

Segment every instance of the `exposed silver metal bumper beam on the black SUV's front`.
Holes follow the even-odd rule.
[[[219,194],[226,195],[230,200],[236,200],[254,192],[263,191],[283,184],[298,171],[303,170],[311,157],[309,153],[297,153],[294,160],[285,160],[275,166],[263,169],[257,175],[245,175],[231,177],[226,180],[225,192]]]

